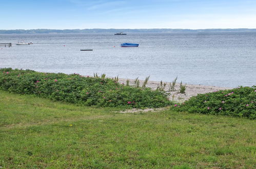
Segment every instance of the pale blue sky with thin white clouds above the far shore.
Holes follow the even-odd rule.
[[[0,29],[256,28],[256,0],[0,0]]]

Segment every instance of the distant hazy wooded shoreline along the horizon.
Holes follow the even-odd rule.
[[[256,32],[256,29],[15,29],[0,30],[0,34],[21,33],[116,33],[116,32]]]

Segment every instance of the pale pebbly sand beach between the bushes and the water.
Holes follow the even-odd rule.
[[[127,79],[120,78],[119,82],[126,84]],[[130,85],[134,85],[134,79],[129,79]],[[140,80],[140,84],[142,85],[144,80]],[[163,82],[164,83],[164,82]],[[219,90],[227,90],[227,89],[232,89],[232,88],[225,88],[225,87],[216,87],[216,86],[202,86],[202,85],[190,85],[183,83],[183,85],[186,85],[186,91],[184,94],[178,93],[180,89],[180,83],[176,82],[175,85],[175,90],[176,91],[169,91],[170,88],[170,82],[166,82],[167,85],[165,87],[165,91],[168,91],[169,99],[174,100],[176,102],[184,102],[185,100],[189,99],[192,96],[196,96],[198,94],[203,94],[203,93],[209,93],[209,92],[214,92],[214,91],[219,91]],[[157,86],[160,86],[160,81],[148,81],[147,87],[155,90]]]

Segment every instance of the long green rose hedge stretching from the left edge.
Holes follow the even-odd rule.
[[[101,107],[158,108],[171,103],[164,91],[133,88],[104,77],[11,68],[0,69],[0,90]]]

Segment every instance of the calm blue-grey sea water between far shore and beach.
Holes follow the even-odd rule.
[[[0,34],[0,68],[42,72],[106,73],[109,77],[208,86],[256,85],[256,33]],[[121,48],[138,43],[138,48]],[[80,51],[93,49],[93,51]]]

